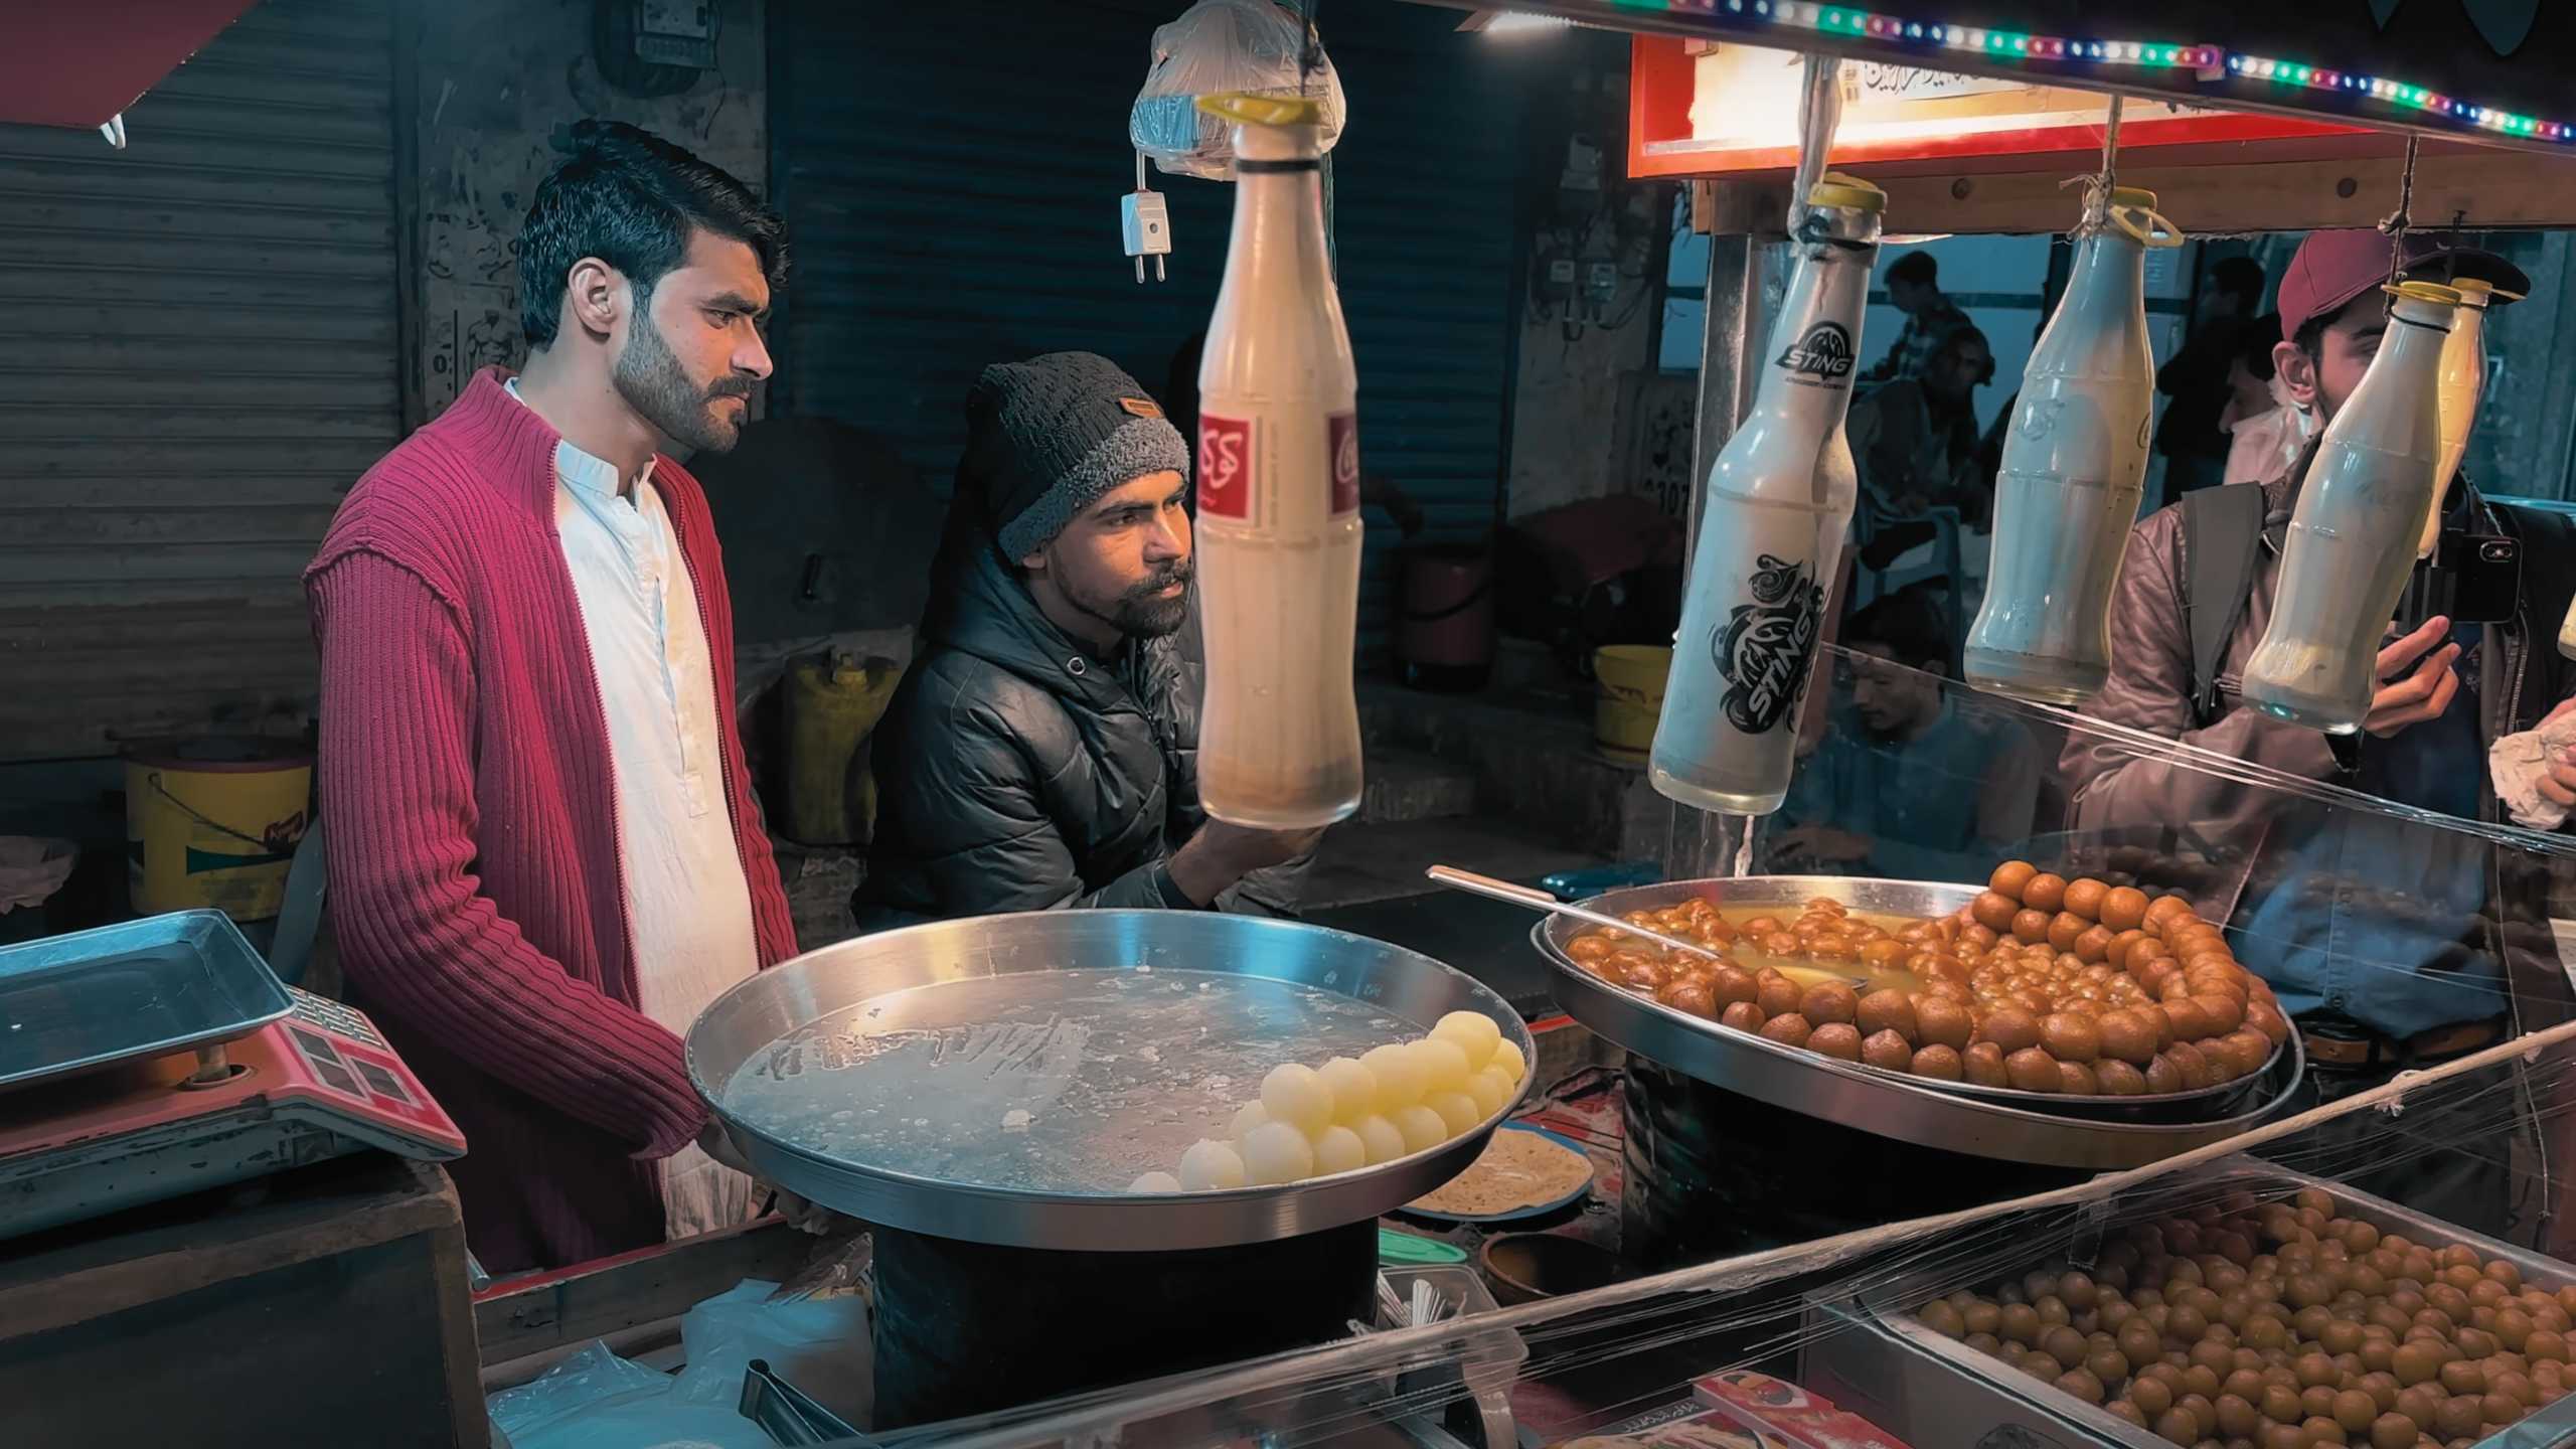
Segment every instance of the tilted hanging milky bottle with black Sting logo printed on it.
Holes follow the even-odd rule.
[[[1798,704],[1860,498],[1842,415],[1886,204],[1847,175],[1808,193],[1754,407],[1708,467],[1646,766],[1654,789],[1698,810],[1770,815],[1788,794]]]

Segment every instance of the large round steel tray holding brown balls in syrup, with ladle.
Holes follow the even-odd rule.
[[[1788,908],[1829,897],[1855,913],[1942,915],[1976,900],[1976,887],[1857,877],[1744,877],[1615,890],[1584,905],[1620,915],[1662,910],[1690,897],[1728,908]],[[2251,1098],[2223,1116],[2125,1122],[2061,1109],[2035,1111],[2002,1101],[2004,1093],[1947,1091],[1674,1011],[1577,967],[1566,957],[1566,941],[1582,931],[1582,923],[1551,915],[1530,931],[1530,938],[1556,967],[1558,1006],[1592,1031],[1677,1073],[1788,1111],[1976,1158],[2089,1171],[2138,1168],[2244,1132],[2280,1106],[2308,1070],[2293,1031],[2287,1049],[2254,1078]]]

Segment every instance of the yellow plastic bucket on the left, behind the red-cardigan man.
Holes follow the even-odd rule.
[[[314,755],[294,740],[206,737],[126,748],[134,910],[216,908],[268,920],[304,838]]]

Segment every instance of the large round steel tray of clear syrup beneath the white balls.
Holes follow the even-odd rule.
[[[1319,1232],[1450,1181],[1517,1106],[1394,1163],[1291,1186],[1128,1194],[1280,1062],[1316,1065],[1481,1011],[1417,951],[1190,910],[1043,910],[860,936],[760,972],[688,1031],[688,1073],[752,1168],[866,1222],[1074,1250]]]

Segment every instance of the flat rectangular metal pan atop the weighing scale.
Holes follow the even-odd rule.
[[[232,1042],[294,1008],[222,910],[0,946],[0,1091]]]

